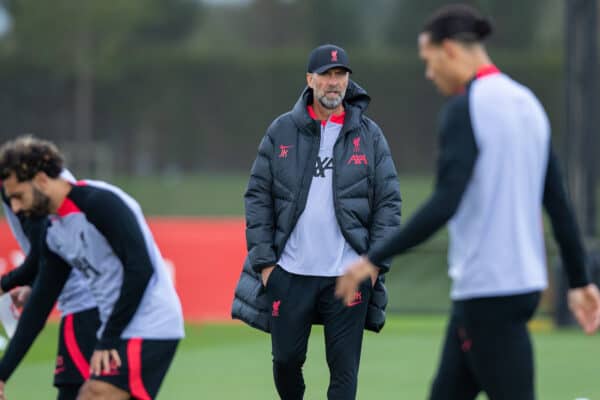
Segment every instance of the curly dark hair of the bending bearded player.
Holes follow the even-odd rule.
[[[54,143],[33,135],[19,136],[0,148],[0,179],[14,173],[19,182],[30,181],[38,172],[57,178],[64,158]]]

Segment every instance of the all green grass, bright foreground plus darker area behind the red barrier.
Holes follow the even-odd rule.
[[[146,215],[241,216],[247,175],[121,178],[114,182],[140,200]],[[400,183],[406,221],[430,193],[432,182],[427,177],[401,177]],[[554,247],[551,241],[548,244]],[[417,251],[396,258],[387,279],[390,309],[447,308],[445,249],[446,234],[441,232]],[[427,397],[446,318],[398,315],[388,318],[381,334],[365,335],[358,399]],[[534,324],[537,398],[600,400],[600,336],[586,337],[579,331],[555,331],[548,326],[545,321]],[[7,385],[9,399],[55,398],[51,382],[57,329],[57,324],[48,324],[13,375]],[[329,376],[323,342],[322,329],[315,327],[304,369],[307,400],[326,398]],[[245,325],[188,325],[187,338],[158,397],[276,399],[270,347],[266,334]]]

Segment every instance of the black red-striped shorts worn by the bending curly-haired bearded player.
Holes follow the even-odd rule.
[[[121,367],[91,379],[110,383],[139,400],[153,399],[175,357],[179,340],[123,339],[117,351]]]

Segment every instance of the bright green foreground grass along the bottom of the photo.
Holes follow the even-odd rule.
[[[438,360],[442,316],[388,320],[379,335],[367,333],[359,399],[424,399]],[[600,338],[578,331],[535,329],[540,400],[600,398]],[[56,324],[49,324],[7,386],[10,399],[50,399]],[[275,399],[269,336],[244,325],[188,325],[161,389],[162,399]],[[328,382],[323,334],[315,327],[304,369],[306,399],[323,399]],[[481,396],[481,399],[485,397]]]

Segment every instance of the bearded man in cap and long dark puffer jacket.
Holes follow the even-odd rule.
[[[353,399],[363,329],[379,331],[385,320],[388,262],[350,306],[334,296],[344,267],[400,225],[396,169],[381,129],[364,115],[370,98],[350,73],[342,48],[313,50],[308,87],[267,130],[245,194],[248,257],[233,317],[271,332],[285,400],[304,394],[313,323],[325,327],[328,398]]]

